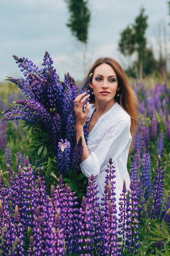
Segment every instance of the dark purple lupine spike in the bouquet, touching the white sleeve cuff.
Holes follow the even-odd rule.
[[[82,136],[81,136],[80,139],[78,140],[78,143],[72,149],[72,154],[70,157],[72,159],[71,164],[70,164],[72,171],[77,170],[77,166],[81,162],[82,153],[83,153],[83,144],[82,144]]]

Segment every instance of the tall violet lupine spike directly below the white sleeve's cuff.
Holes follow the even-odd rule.
[[[96,247],[97,253],[100,254],[100,243],[101,243],[101,219],[99,216],[100,210],[99,208],[99,197],[98,197],[98,185],[96,184],[96,180],[94,175],[92,174],[89,178],[89,186],[87,186],[86,193],[86,202],[87,207],[91,211],[92,218],[92,237],[94,247]]]

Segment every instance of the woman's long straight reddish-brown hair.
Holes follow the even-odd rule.
[[[110,57],[98,58],[92,65],[91,69],[89,70],[87,77],[91,73],[94,74],[95,68],[103,63],[109,64],[113,68],[113,70],[116,72],[117,79],[118,79],[118,87],[120,88],[119,90],[120,96],[118,97],[117,95],[115,95],[114,99],[130,115],[130,118],[131,118],[130,133],[133,137],[134,132],[136,131],[136,128],[137,128],[137,119],[139,115],[139,112],[138,112],[139,101],[136,97],[135,92],[130,86],[128,82],[128,78],[125,72],[123,71],[121,65],[117,61],[115,61],[113,58],[110,58]],[[90,81],[92,81],[92,77]],[[94,94],[91,93],[90,87],[89,87],[89,90],[90,90],[90,103],[95,103],[95,97],[94,97]]]

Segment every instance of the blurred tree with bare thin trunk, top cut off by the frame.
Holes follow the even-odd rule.
[[[87,7],[88,0],[66,0],[69,12],[71,14],[67,27],[72,31],[72,34],[82,44],[83,49],[83,66],[86,72],[86,49],[88,38],[88,27],[90,21],[90,11]]]

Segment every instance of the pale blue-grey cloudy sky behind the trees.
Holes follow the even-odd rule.
[[[101,56],[110,56],[123,68],[132,59],[118,51],[120,33],[132,25],[140,9],[148,15],[148,46],[158,55],[158,43],[170,40],[168,0],[89,0],[91,20],[86,46],[86,69]],[[41,66],[45,52],[54,61],[60,79],[69,72],[76,81],[85,77],[81,43],[66,26],[69,11],[65,0],[0,0],[0,82],[22,73],[12,55],[27,57]],[[166,34],[166,36],[164,36]],[[170,45],[168,45],[169,47]]]

